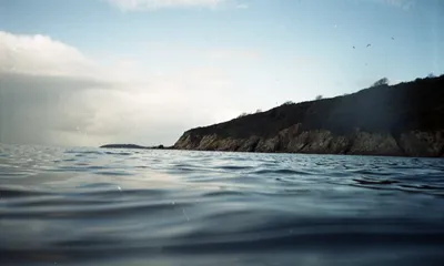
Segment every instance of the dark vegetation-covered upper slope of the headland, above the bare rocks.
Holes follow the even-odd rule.
[[[403,131],[444,129],[444,75],[389,85],[381,79],[371,88],[332,99],[293,103],[265,112],[240,115],[229,122],[198,127],[198,135],[273,136],[301,123],[302,130],[349,134],[355,129],[398,135]]]

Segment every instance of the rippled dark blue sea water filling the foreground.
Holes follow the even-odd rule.
[[[444,161],[0,145],[0,265],[444,265]]]

